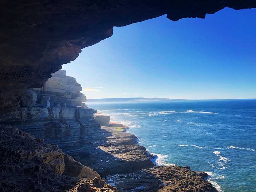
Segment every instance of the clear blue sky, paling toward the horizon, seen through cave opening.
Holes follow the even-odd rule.
[[[63,69],[88,99],[256,98],[256,9],[115,27]]]

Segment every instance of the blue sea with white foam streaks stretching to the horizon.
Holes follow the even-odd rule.
[[[87,105],[128,125],[159,165],[207,172],[218,191],[256,191],[256,100]]]

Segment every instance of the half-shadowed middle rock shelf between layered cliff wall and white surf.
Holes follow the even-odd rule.
[[[87,155],[79,161],[102,177],[153,167],[152,156],[145,147],[137,145],[137,137],[125,129],[124,126],[101,126],[91,147],[87,148]]]

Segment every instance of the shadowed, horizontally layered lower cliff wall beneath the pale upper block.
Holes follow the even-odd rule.
[[[82,107],[18,108],[1,115],[0,119],[1,123],[58,145],[63,152],[77,158],[77,154],[87,151],[95,133],[100,130],[100,125],[93,119],[95,112]]]

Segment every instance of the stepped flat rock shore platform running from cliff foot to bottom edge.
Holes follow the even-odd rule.
[[[110,119],[98,113],[95,116]],[[138,145],[138,138],[126,132],[128,127],[111,122],[106,125],[108,122],[95,135],[93,158],[80,162],[97,171],[111,186],[122,192],[217,192],[205,180],[208,175],[204,172],[194,172],[190,167],[156,166],[152,160],[157,157]]]

